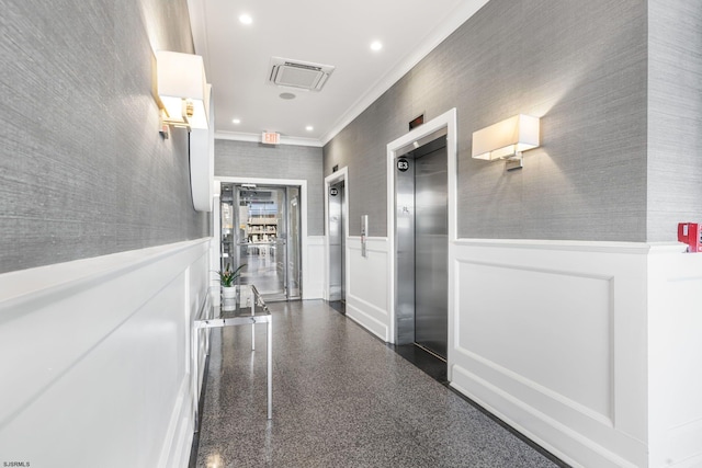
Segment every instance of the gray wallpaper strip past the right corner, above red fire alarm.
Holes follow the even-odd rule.
[[[648,239],[702,222],[702,4],[650,0]]]

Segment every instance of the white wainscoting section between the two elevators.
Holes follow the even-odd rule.
[[[361,238],[347,238],[347,317],[385,342],[392,341],[388,313],[387,239],[367,238],[367,256],[361,255]]]

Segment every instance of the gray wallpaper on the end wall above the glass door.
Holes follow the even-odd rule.
[[[215,140],[215,175],[307,181],[307,235],[324,235],[321,148]]]

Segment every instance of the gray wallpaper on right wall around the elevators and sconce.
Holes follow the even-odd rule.
[[[350,218],[387,235],[386,145],[456,107],[461,238],[646,240],[646,13],[491,0],[325,146],[325,175],[349,167]],[[518,113],[542,117],[523,170],[471,158],[473,132]]]

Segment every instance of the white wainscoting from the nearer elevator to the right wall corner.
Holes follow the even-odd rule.
[[[648,246],[451,251],[452,386],[574,466],[645,466]]]

